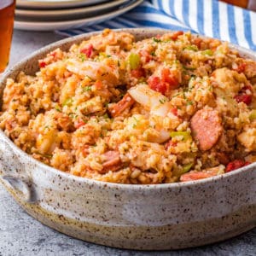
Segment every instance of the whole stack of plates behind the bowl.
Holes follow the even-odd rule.
[[[143,0],[17,0],[15,28],[49,31],[95,25],[122,15],[142,2]]]

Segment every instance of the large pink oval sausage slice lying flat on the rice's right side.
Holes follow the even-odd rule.
[[[211,108],[198,110],[190,120],[190,129],[202,151],[212,148],[223,132],[218,111]]]

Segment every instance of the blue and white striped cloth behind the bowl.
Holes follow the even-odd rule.
[[[59,31],[67,36],[108,28],[159,27],[200,33],[256,50],[256,13],[218,0],[145,0],[137,8],[94,26]]]

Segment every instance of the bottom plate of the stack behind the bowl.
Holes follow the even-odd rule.
[[[119,9],[113,12],[110,12],[105,15],[98,15],[91,18],[79,19],[79,20],[64,20],[64,21],[25,21],[25,20],[15,20],[15,28],[22,30],[33,30],[33,31],[50,31],[50,30],[58,30],[58,29],[71,29],[78,28],[81,26],[90,26],[100,23],[104,20],[110,20],[113,17],[118,15],[122,15],[125,12],[135,8],[140,3],[143,3],[143,0],[132,1],[130,5],[127,5],[123,9]]]

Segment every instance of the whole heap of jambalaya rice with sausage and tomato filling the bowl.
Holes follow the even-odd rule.
[[[113,183],[212,177],[255,161],[256,62],[189,32],[105,30],[3,91],[0,128],[33,158]]]

